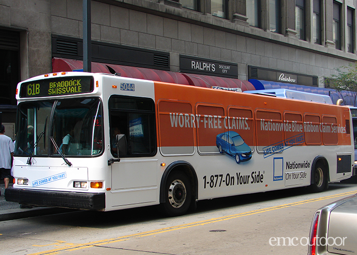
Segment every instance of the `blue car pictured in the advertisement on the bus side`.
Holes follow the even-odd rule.
[[[250,147],[244,142],[242,137],[234,131],[217,135],[216,145],[220,153],[226,152],[226,154],[236,159],[237,164],[251,159]]]

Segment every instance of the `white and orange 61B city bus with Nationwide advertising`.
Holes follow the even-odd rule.
[[[348,107],[114,74],[20,82],[14,184],[21,205],[111,211],[328,183],[352,176]]]

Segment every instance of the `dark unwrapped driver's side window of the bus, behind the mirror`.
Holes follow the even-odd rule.
[[[142,157],[156,154],[154,101],[146,98],[111,96],[109,98],[111,152],[117,157],[114,134],[124,134],[126,154],[120,157]]]

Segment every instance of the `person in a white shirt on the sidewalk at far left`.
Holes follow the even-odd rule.
[[[9,186],[15,146],[12,139],[6,135],[5,126],[0,127],[0,179],[4,179],[5,189]],[[1,195],[1,191],[0,191]]]

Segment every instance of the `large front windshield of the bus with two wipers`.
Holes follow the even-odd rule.
[[[95,156],[103,151],[99,98],[31,101],[18,105],[15,156]],[[42,133],[42,136],[41,136]]]

